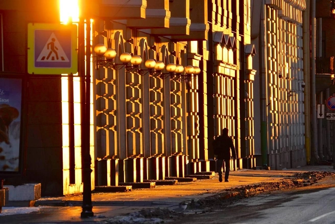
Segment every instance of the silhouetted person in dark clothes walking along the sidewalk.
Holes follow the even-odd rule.
[[[228,128],[222,130],[221,136],[217,137],[213,142],[214,154],[217,158],[217,170],[219,172],[219,181],[222,182],[222,167],[225,163],[225,182],[229,182],[230,169],[230,150],[231,154],[236,160],[236,151],[233,140],[228,136]]]

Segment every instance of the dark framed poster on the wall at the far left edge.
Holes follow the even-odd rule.
[[[0,77],[0,174],[19,172],[22,79]]]

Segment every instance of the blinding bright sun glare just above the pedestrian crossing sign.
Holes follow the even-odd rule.
[[[78,0],[59,0],[60,21],[67,24],[71,19],[73,22],[79,21]]]

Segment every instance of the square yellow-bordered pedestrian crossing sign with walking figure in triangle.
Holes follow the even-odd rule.
[[[77,26],[28,24],[28,73],[78,72]]]

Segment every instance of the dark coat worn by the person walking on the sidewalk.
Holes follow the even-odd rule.
[[[236,151],[233,140],[229,136],[219,136],[213,142],[214,154],[218,155],[218,160],[230,160],[230,150],[234,159]]]

